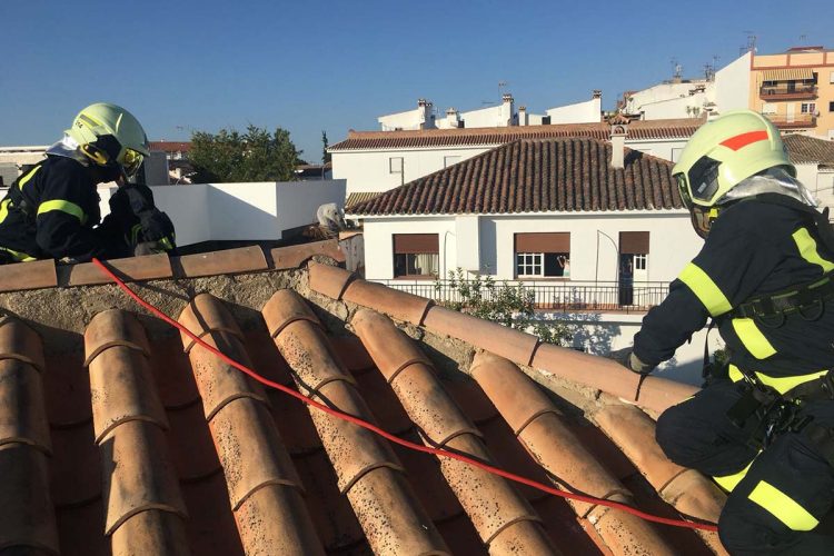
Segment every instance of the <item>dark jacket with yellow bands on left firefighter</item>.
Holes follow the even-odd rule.
[[[90,260],[130,255],[126,222],[101,221],[100,179],[66,157],[47,157],[23,173],[0,201],[0,254],[4,260]],[[96,227],[99,225],[98,227]]]

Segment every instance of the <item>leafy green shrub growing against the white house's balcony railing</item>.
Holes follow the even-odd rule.
[[[485,320],[519,330],[530,331],[542,341],[566,346],[573,340],[569,325],[536,318],[533,290],[520,284],[496,282],[490,276],[468,278],[463,269],[449,270],[446,282],[435,280],[440,305]]]

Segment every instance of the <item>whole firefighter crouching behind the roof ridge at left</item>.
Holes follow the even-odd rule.
[[[0,201],[0,264],[172,250],[170,219],[147,186],[129,182],[148,155],[145,130],[123,108],[96,103],[81,110],[47,158]],[[119,188],[101,221],[96,186],[108,181]]]

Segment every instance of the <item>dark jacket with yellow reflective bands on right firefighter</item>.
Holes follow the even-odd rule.
[[[648,311],[634,354],[649,365],[669,359],[713,317],[731,364],[785,391],[804,381],[801,376],[834,368],[834,301],[822,311],[787,315],[783,324],[728,312],[751,298],[820,281],[832,270],[834,255],[811,216],[756,199],[739,201],[724,209],[668,297]]]

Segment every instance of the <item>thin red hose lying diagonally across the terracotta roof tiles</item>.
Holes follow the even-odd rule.
[[[430,446],[424,446],[421,444],[415,444],[408,440],[404,440],[397,436],[391,435],[390,433],[387,433],[383,430],[381,428],[377,427],[376,425],[368,423],[366,420],[359,419],[358,417],[354,417],[353,415],[345,414],[338,409],[334,409],[331,407],[328,407],[324,404],[320,404],[314,399],[308,398],[304,394],[300,394],[291,388],[288,388],[281,384],[274,383],[272,380],[269,380],[268,378],[264,378],[262,376],[258,375],[255,370],[237,363],[236,360],[231,359],[227,355],[225,355],[222,351],[218,350],[216,347],[210,346],[206,341],[203,341],[201,338],[199,338],[197,335],[191,332],[188,328],[180,325],[172,318],[170,318],[168,315],[162,312],[161,310],[153,307],[151,304],[139,297],[138,294],[136,294],[133,290],[131,290],[121,279],[119,279],[118,276],[116,276],[105,264],[102,264],[99,259],[92,259],[92,262],[95,262],[102,272],[105,272],[107,276],[109,276],[125,292],[130,296],[137,304],[145,307],[147,310],[156,315],[157,317],[161,318],[172,327],[179,329],[182,334],[191,338],[195,342],[199,344],[201,347],[208,349],[214,355],[219,357],[222,361],[227,363],[228,365],[231,365],[236,369],[240,370],[241,373],[245,373],[252,377],[255,380],[259,381],[260,384],[265,386],[269,386],[270,388],[275,388],[276,390],[280,390],[285,394],[288,394],[292,396],[294,398],[310,405],[317,409],[320,409],[321,411],[325,411],[328,415],[332,415],[334,417],[337,417],[339,419],[344,419],[346,421],[353,423],[354,425],[357,425],[361,428],[365,428],[367,430],[370,430],[374,434],[377,434],[381,436],[383,438],[386,438],[387,440],[390,440],[395,444],[398,444],[400,446],[404,446],[406,448],[416,450],[416,451],[423,451],[424,454],[431,454],[435,456],[440,457],[447,457],[449,459],[457,459],[458,461],[463,461],[467,465],[470,465],[473,467],[477,467],[479,469],[484,469],[485,471],[492,473],[493,475],[498,475],[499,477],[504,477],[505,479],[513,480],[515,483],[520,483],[522,485],[527,485],[529,487],[536,488],[538,490],[542,490],[544,493],[558,496],[560,498],[569,498],[572,500],[578,500],[584,502],[586,504],[595,504],[599,506],[607,506],[609,508],[616,508],[622,509],[623,512],[627,512],[628,514],[635,515],[642,519],[646,519],[647,522],[654,522],[665,525],[672,525],[675,527],[684,527],[688,529],[701,529],[701,530],[708,530],[708,532],[717,532],[718,527],[715,524],[712,523],[695,523],[695,522],[685,522],[683,519],[671,519],[667,517],[661,517],[653,514],[647,514],[645,512],[641,512],[637,508],[634,508],[632,506],[628,506],[627,504],[623,504],[615,500],[606,500],[603,498],[595,498],[593,496],[586,496],[582,494],[575,494],[575,493],[568,493],[566,490],[559,490],[558,488],[554,488],[548,485],[544,485],[542,483],[538,483],[533,479],[528,479],[525,477],[522,477],[519,475],[515,475],[513,473],[506,471],[504,469],[500,469],[498,467],[494,467],[492,465],[484,464],[481,461],[478,461],[476,459],[461,456],[460,454],[456,454],[453,451],[447,451],[445,449],[439,448],[433,448]]]

